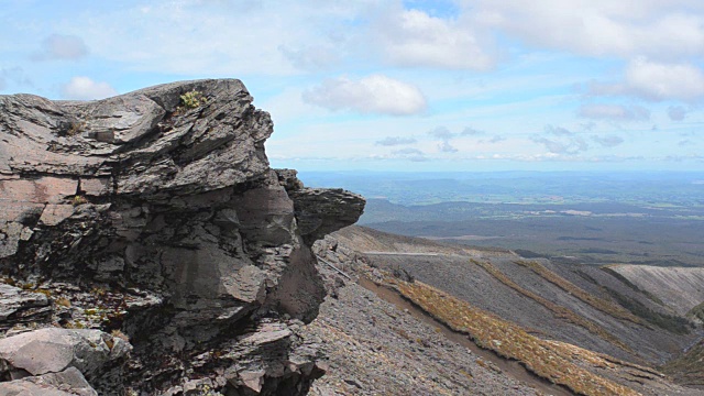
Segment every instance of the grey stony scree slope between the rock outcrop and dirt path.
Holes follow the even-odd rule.
[[[349,283],[306,332],[324,340],[329,371],[312,395],[535,395],[438,328]]]

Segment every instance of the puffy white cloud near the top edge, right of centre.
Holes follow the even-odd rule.
[[[373,40],[398,66],[491,69],[495,59],[472,23],[431,16],[420,10],[392,9],[373,24]]]

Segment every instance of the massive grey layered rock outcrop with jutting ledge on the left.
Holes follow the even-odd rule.
[[[271,169],[272,131],[233,79],[0,97],[0,393],[61,374],[78,394],[305,394],[324,366],[299,336],[324,296],[310,245],[364,200]],[[103,353],[28,371],[2,342],[34,328]]]

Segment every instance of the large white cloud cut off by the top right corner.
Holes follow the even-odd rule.
[[[477,23],[537,46],[658,59],[704,54],[698,0],[465,0]]]

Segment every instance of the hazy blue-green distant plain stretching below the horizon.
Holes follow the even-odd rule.
[[[367,206],[360,224],[582,264],[704,266],[703,173],[301,173]]]

